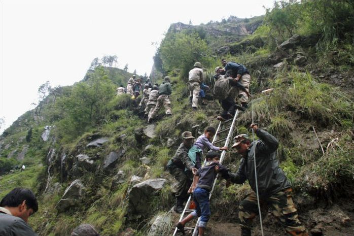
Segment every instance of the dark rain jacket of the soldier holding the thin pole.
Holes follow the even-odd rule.
[[[251,188],[256,192],[254,150],[256,149],[258,191],[260,197],[268,197],[280,190],[291,187],[275,157],[278,141],[267,131],[257,129],[260,140],[252,142],[247,156],[241,159],[236,174],[229,173],[231,181],[242,184],[249,180]]]

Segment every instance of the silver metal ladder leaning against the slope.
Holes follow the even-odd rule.
[[[213,145],[216,145],[218,143],[223,143],[225,142],[225,145],[223,145],[223,147],[225,146],[229,146],[229,143],[232,139],[232,136],[233,136],[233,133],[234,133],[234,126],[235,126],[235,121],[236,121],[236,118],[239,114],[239,110],[237,109],[236,110],[236,113],[234,115],[234,117],[232,119],[229,119],[229,120],[226,120],[226,121],[223,121],[223,122],[220,122],[219,123],[219,126],[218,126],[218,129],[216,131],[216,134],[214,136],[214,139],[213,139],[213,142],[211,142]],[[227,124],[229,124],[231,122],[231,125],[230,126],[227,126]],[[217,140],[218,137],[221,137],[220,134],[223,134],[225,133],[226,131],[229,131],[227,136],[225,138],[219,138]],[[223,163],[223,160],[224,160],[224,157],[225,157],[225,154],[226,154],[226,151],[223,151],[221,153],[221,157],[220,157],[220,163]],[[205,162],[205,160],[204,160]],[[213,188],[211,188],[211,191],[210,191],[210,194],[209,194],[209,199],[211,197],[211,194],[213,194],[213,190],[214,190],[214,187],[215,187],[215,184],[217,182],[217,179],[218,179],[218,176],[219,174],[215,177],[215,180],[214,180],[214,183],[213,183]],[[179,221],[182,221],[183,218],[185,218],[189,213],[193,212],[195,209],[189,209],[190,205],[191,205],[191,201],[192,201],[192,195],[189,196],[188,200],[187,200],[187,204],[186,204],[186,207],[185,209],[183,210],[182,214],[181,214],[181,217],[180,217],[180,220]],[[199,224],[199,221],[200,221],[200,218],[198,218],[197,220],[197,223],[195,225],[195,227],[185,227],[185,230],[191,230],[193,229],[193,236],[196,236],[198,235],[198,224]],[[177,227],[174,229],[174,232],[173,232],[173,236],[176,235],[178,229]]]

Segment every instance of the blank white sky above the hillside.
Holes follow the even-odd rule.
[[[263,6],[273,2],[1,0],[0,118],[9,127],[37,103],[41,84],[72,85],[83,79],[93,58],[105,54],[116,54],[119,68],[128,63],[128,71],[149,75],[152,42],[160,43],[171,23],[251,18],[265,14]]]

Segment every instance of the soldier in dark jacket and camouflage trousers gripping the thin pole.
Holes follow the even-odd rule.
[[[241,226],[241,236],[251,236],[252,220],[258,214],[256,180],[254,166],[254,152],[257,160],[258,192],[261,203],[272,208],[273,215],[285,227],[289,235],[308,236],[306,229],[299,221],[297,210],[292,199],[291,183],[279,167],[275,157],[278,141],[268,132],[259,129],[256,124],[251,127],[259,140],[251,143],[247,134],[235,137],[236,143],[232,148],[242,155],[237,173],[229,173],[233,183],[243,184],[249,180],[254,191],[243,199],[239,205],[238,218]],[[227,182],[227,185],[230,182]]]

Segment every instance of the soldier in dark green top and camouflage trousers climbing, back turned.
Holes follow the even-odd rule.
[[[169,95],[172,93],[171,91],[171,84],[169,83],[170,79],[168,76],[165,77],[165,81],[160,84],[159,87],[159,97],[157,98],[157,104],[154,111],[149,116],[148,123],[154,119],[157,114],[159,113],[160,108],[162,105],[165,107],[166,115],[171,116],[171,102],[169,100]]]

